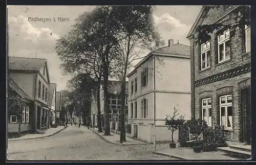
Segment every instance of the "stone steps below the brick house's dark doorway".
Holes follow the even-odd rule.
[[[241,158],[245,158],[245,159],[251,158],[251,152],[248,152],[248,151],[242,151],[242,150],[233,149],[230,147],[218,147],[217,149],[219,151],[226,152],[227,154],[229,154],[231,156],[241,157]]]

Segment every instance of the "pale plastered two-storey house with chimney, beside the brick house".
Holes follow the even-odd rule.
[[[153,127],[164,126],[174,107],[190,119],[190,48],[168,40],[168,46],[144,57],[129,78],[129,119],[132,136],[153,142]],[[177,131],[178,132],[178,131]],[[156,127],[156,140],[169,140],[166,127]],[[178,138],[178,133],[175,135]]]

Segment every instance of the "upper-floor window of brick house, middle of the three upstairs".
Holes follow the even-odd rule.
[[[230,34],[229,30],[218,35],[218,60],[219,63],[230,59]]]

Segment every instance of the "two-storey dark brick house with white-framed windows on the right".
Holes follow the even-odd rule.
[[[228,141],[250,144],[248,13],[245,6],[203,6],[187,38],[191,44],[191,117],[206,120],[208,126],[223,125]],[[208,33],[208,39],[200,38],[200,27],[220,24]]]

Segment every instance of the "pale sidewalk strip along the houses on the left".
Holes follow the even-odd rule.
[[[15,138],[8,138],[8,141],[14,141],[14,140],[27,140],[27,139],[34,139],[34,138],[42,138],[42,137],[48,137],[52,136],[61,130],[65,129],[63,126],[58,126],[57,128],[48,128],[45,132],[45,134],[26,134],[22,137],[15,137]]]

